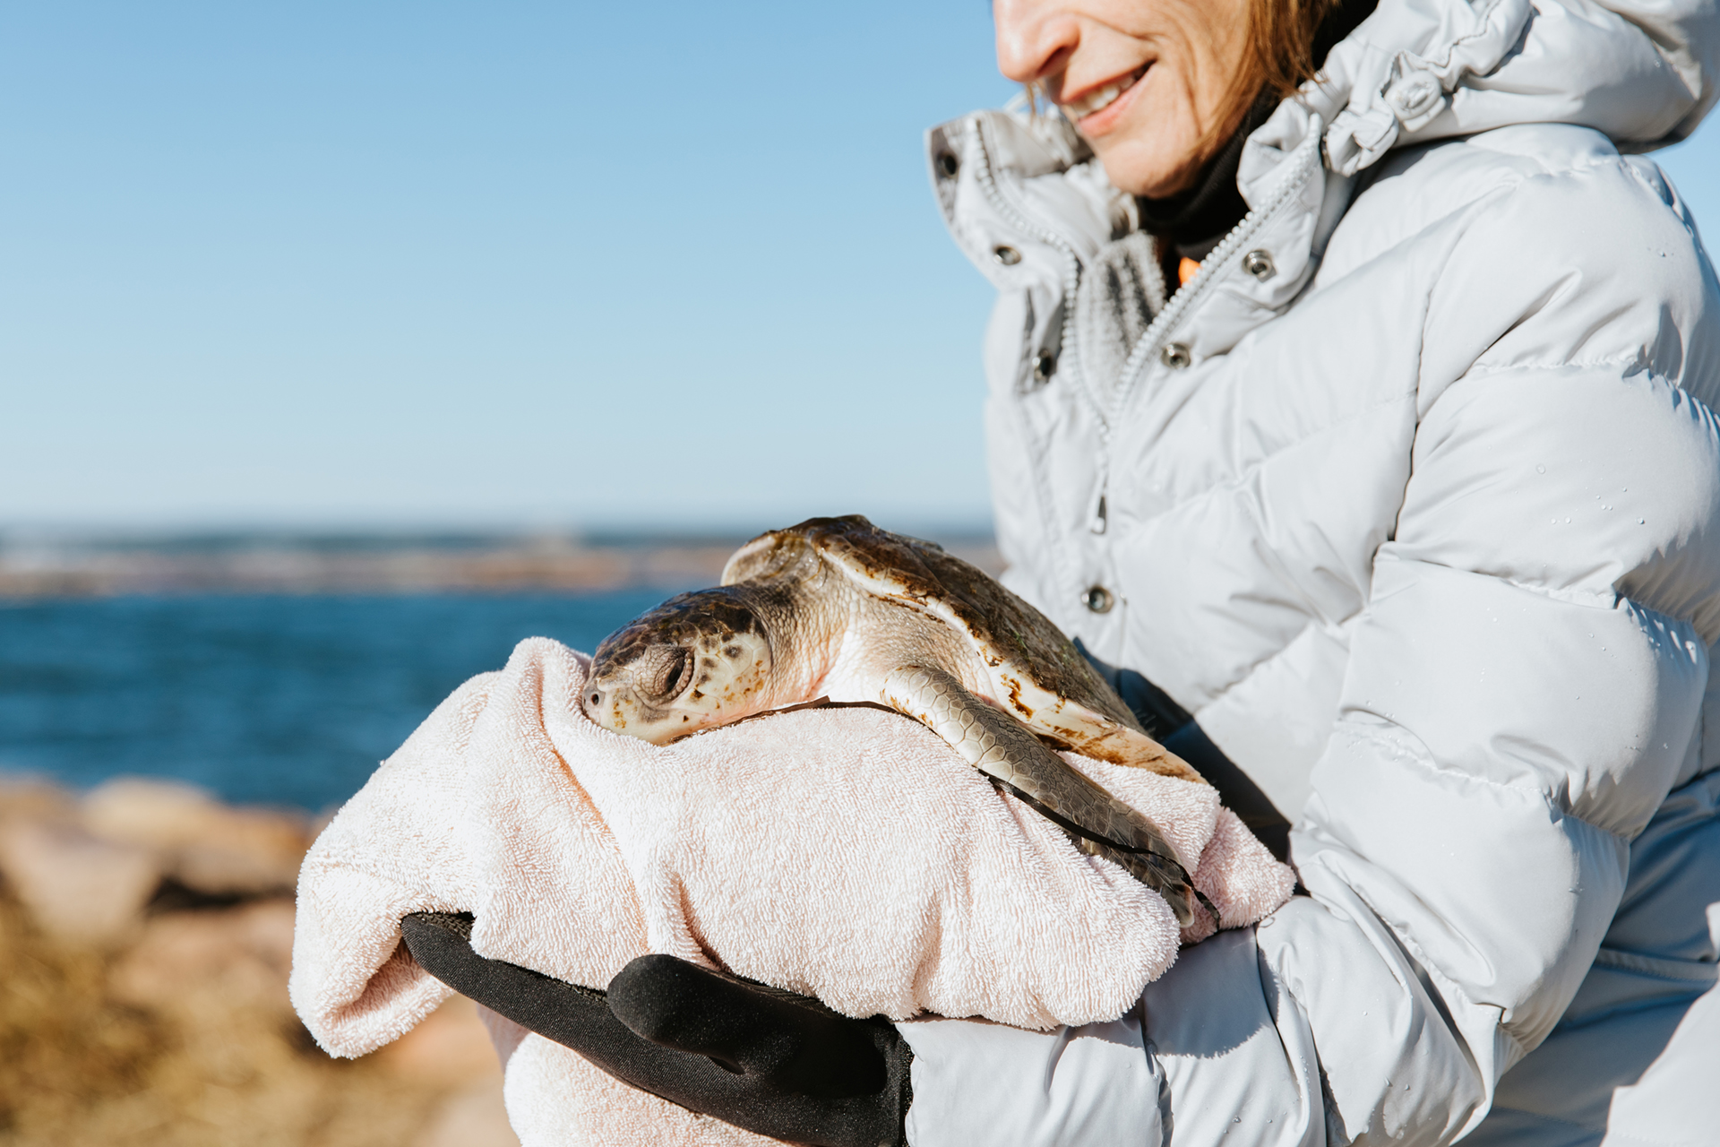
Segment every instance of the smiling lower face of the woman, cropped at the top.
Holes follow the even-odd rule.
[[[1232,129],[1213,120],[1242,69],[1247,0],[994,0],[992,14],[998,67],[1039,81],[1121,191],[1182,191]]]

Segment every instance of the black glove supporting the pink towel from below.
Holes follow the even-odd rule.
[[[600,992],[476,954],[466,913],[413,913],[401,935],[454,991],[669,1102],[795,1144],[906,1144],[913,1052],[882,1018],[674,956],[640,956]]]

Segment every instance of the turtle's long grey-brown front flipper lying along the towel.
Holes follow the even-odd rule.
[[[884,678],[884,703],[913,717],[961,757],[1025,796],[1061,827],[1075,848],[1115,860],[1164,898],[1187,927],[1199,896],[1176,853],[1144,815],[1116,800],[1053,753],[1025,726],[929,666],[903,666]]]

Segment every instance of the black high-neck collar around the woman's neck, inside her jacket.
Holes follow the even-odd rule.
[[[1342,0],[1333,7],[1314,34],[1314,58],[1324,62],[1326,53],[1373,15],[1376,5],[1378,0]],[[1261,124],[1271,119],[1278,103],[1280,98],[1269,91],[1256,96],[1237,131],[1206,162],[1187,191],[1163,199],[1135,199],[1140,205],[1140,229],[1164,241],[1168,255],[1173,256],[1170,263],[1178,258],[1204,260],[1218,246],[1218,241],[1249,213],[1249,205],[1237,189],[1242,144]]]

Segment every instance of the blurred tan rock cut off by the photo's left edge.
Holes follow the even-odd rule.
[[[0,822],[0,874],[45,932],[89,944],[131,932],[162,882],[151,850],[22,817]]]

